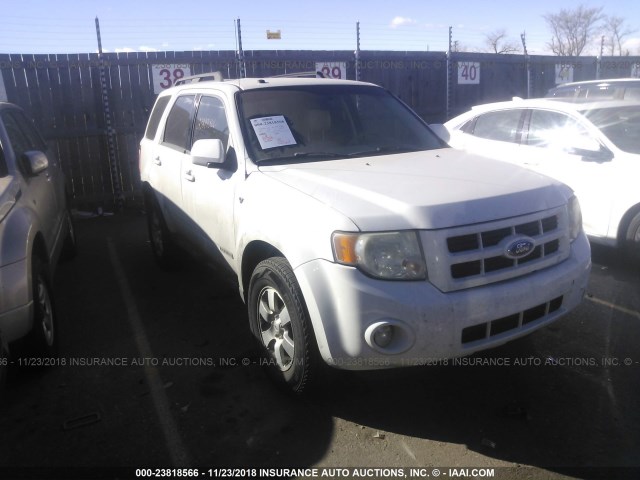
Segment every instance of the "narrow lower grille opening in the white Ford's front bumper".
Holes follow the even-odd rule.
[[[489,322],[472,325],[462,330],[462,344],[491,339],[502,333],[524,328],[533,322],[542,322],[550,314],[560,309],[562,296],[556,297],[550,302],[536,305],[520,313],[514,313],[507,317],[498,318]]]

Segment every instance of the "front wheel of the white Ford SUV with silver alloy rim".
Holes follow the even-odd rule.
[[[281,385],[301,394],[316,382],[320,367],[313,328],[289,262],[260,262],[249,284],[249,321],[262,362]]]

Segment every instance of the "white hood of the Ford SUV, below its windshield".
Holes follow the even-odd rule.
[[[563,205],[569,187],[452,148],[260,167],[349,217],[362,231],[439,229]]]

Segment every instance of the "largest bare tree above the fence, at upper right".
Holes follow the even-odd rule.
[[[563,8],[558,13],[548,13],[543,18],[553,33],[549,44],[553,53],[577,57],[593,38],[604,16],[602,7],[579,5],[573,10]]]

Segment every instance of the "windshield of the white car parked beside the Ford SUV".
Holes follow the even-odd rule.
[[[640,153],[640,105],[596,108],[583,113],[620,150]]]

